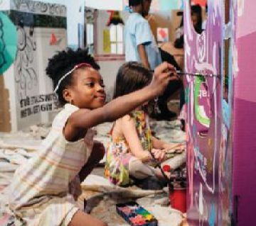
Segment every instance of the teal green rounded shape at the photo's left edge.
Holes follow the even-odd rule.
[[[17,31],[5,13],[0,12],[0,74],[14,62],[17,50]]]

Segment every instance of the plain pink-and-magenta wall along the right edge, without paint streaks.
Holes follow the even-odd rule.
[[[256,1],[238,1],[234,79],[233,197],[237,225],[256,225]]]

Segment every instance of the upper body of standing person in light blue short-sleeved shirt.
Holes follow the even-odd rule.
[[[154,69],[161,64],[161,55],[149,22],[143,17],[149,13],[150,5],[151,0],[129,0],[132,13],[124,28],[125,60]]]

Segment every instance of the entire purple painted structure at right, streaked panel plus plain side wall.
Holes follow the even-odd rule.
[[[230,0],[225,24],[225,1],[208,0],[201,35],[184,4],[185,71],[221,75],[185,79],[188,223],[256,225],[256,1]]]

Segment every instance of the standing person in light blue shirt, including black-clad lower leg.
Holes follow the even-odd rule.
[[[132,11],[124,28],[125,60],[126,62],[140,62],[147,69],[154,70],[161,64],[161,53],[156,45],[154,35],[146,20],[149,14],[151,0],[129,0]],[[166,60],[163,58],[163,60]],[[169,120],[176,113],[169,111],[167,102],[169,96],[181,88],[181,81],[171,81],[164,94],[159,96],[156,103],[157,108],[150,114],[151,118],[157,120]]]

